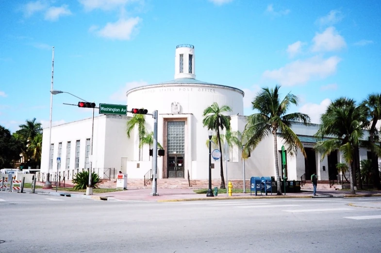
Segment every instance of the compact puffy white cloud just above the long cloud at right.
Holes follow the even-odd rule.
[[[347,46],[344,38],[338,34],[334,27],[328,27],[323,33],[316,33],[313,38],[312,51],[336,51]]]

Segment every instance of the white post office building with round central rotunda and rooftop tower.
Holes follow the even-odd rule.
[[[174,79],[127,91],[128,110],[145,108],[149,113],[158,110],[158,142],[165,150],[165,156],[158,157],[158,178],[177,178],[187,180],[207,180],[209,150],[206,145],[208,129],[202,125],[203,110],[217,102],[219,106],[228,105],[232,131],[243,131],[244,92],[231,86],[207,83],[196,79],[196,55],[192,45],[179,45],[175,51]],[[93,155],[91,151],[92,118],[85,118],[43,130],[43,148],[41,171],[54,173],[59,167],[60,173],[74,173],[92,168],[101,178],[111,169],[121,170],[129,179],[141,179],[151,169],[149,145],[143,146],[139,157],[139,138],[137,127],[130,138],[127,137],[127,121],[132,117],[100,115],[94,119]],[[146,115],[147,132],[153,131],[153,118]],[[320,154],[312,148],[316,142],[313,135],[318,125],[305,127],[294,125],[293,130],[302,141],[307,159],[299,152],[296,156],[287,156],[286,169],[289,180],[307,180],[317,172],[319,180],[328,180],[337,176],[335,165],[342,162],[339,152],[334,152],[321,160]],[[223,134],[223,133],[222,133]],[[281,152],[282,139],[278,139]],[[212,149],[217,148],[212,145]],[[243,161],[239,155],[240,147],[231,147],[228,162],[229,179],[243,179]],[[367,159],[369,153],[360,150],[360,159]],[[57,165],[56,158],[61,157]],[[281,157],[279,165],[281,165]],[[212,159],[212,178],[220,178],[220,162]],[[225,164],[225,161],[224,161]],[[280,166],[281,168],[281,166]],[[269,136],[251,152],[245,161],[246,179],[251,176],[275,176],[273,140]],[[225,168],[224,168],[225,171]],[[225,173],[225,172],[224,172]],[[281,172],[282,173],[282,172]],[[106,176],[105,176],[106,175]],[[69,177],[70,178],[70,177]]]

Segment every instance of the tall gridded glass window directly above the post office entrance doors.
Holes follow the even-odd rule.
[[[185,152],[185,121],[171,121],[167,126],[167,153],[183,154]]]

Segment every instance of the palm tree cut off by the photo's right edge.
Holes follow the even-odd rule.
[[[380,174],[379,174],[379,157],[375,145],[376,140],[379,138],[376,124],[378,120],[381,120],[381,93],[372,93],[362,102],[362,105],[367,108],[369,128],[369,148],[372,151],[372,181],[373,186],[377,189],[381,189]]]

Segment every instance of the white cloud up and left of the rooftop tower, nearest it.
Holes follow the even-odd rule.
[[[129,40],[131,34],[137,31],[136,26],[142,19],[140,17],[133,17],[129,19],[119,19],[116,23],[107,23],[104,28],[97,31],[96,33],[105,38],[119,39],[119,40]],[[92,26],[92,30],[94,30]]]

